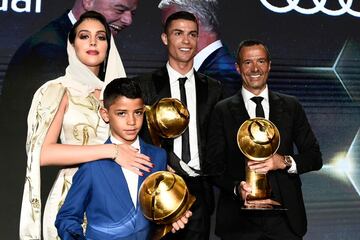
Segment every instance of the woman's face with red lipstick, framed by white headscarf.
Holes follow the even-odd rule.
[[[85,19],[76,29],[73,46],[80,62],[97,75],[108,49],[104,25],[98,20]]]

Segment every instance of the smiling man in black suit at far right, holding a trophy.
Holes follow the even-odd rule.
[[[256,40],[244,41],[237,56],[242,89],[215,106],[209,125],[204,170],[217,175],[213,181],[221,189],[216,234],[224,240],[302,239],[307,221],[300,174],[322,167],[318,142],[300,103],[292,96],[268,89],[271,61],[266,46]],[[253,97],[261,99],[258,106]],[[279,129],[280,146],[265,161],[245,161],[237,145],[237,131],[261,110]],[[245,182],[246,164],[256,172],[267,173],[273,190],[271,199],[246,200],[251,191]],[[280,204],[287,210],[243,210],[244,204]]]

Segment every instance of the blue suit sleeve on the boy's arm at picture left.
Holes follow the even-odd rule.
[[[73,177],[73,183],[55,221],[62,240],[85,239],[82,224],[90,198],[91,165],[82,165]]]

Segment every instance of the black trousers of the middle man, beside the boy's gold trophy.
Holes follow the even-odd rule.
[[[192,216],[184,229],[175,234],[170,232],[162,240],[208,240],[214,201],[212,188],[203,177],[184,177],[184,180],[190,194],[196,197],[196,201],[190,208]]]

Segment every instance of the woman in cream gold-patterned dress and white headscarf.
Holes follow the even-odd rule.
[[[148,157],[125,144],[103,144],[109,128],[98,114],[101,89],[112,79],[125,76],[105,18],[93,11],[84,13],[69,33],[67,51],[66,74],[40,87],[29,111],[21,239],[41,239],[40,166],[64,167],[46,203],[44,239],[57,237],[55,217],[77,170],[71,166],[114,158],[139,175],[140,170],[149,171],[152,166]],[[104,81],[98,77],[101,75],[105,75]]]

